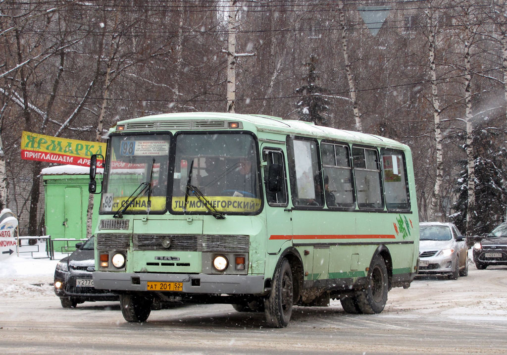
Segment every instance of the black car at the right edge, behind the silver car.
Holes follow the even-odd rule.
[[[502,223],[474,244],[474,262],[478,269],[488,265],[507,265],[507,223]]]

